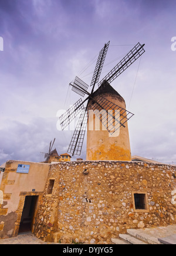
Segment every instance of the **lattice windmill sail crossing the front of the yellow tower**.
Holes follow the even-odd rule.
[[[103,97],[97,96],[94,101],[89,105],[88,109],[94,110],[94,113],[97,117],[102,112],[101,123],[106,127],[110,134],[113,134],[120,128],[120,126],[124,126],[124,124],[134,116],[133,113],[123,109],[122,107],[117,106],[116,104],[112,103],[111,101],[104,99]],[[110,111],[112,110],[112,111]],[[120,114],[116,114],[117,111],[120,111]]]

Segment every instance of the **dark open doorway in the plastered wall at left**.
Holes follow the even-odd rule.
[[[35,214],[38,196],[26,196],[23,206],[19,233],[32,231],[33,216]]]

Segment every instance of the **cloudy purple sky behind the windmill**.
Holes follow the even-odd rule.
[[[175,0],[0,0],[0,165],[40,162],[55,137],[66,153],[73,132],[56,129],[57,111],[80,98],[69,83],[109,40],[100,79],[145,43],[141,61],[111,83],[135,114],[131,154],[176,163],[175,17]],[[95,64],[79,76],[88,84]]]

